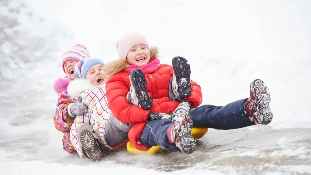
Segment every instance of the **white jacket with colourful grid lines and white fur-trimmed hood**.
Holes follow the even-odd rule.
[[[71,144],[75,147],[80,157],[83,157],[83,153],[78,141],[77,131],[82,124],[92,125],[104,149],[111,149],[104,137],[105,126],[111,112],[108,107],[105,84],[95,87],[88,80],[75,79],[69,83],[68,93],[75,101],[82,97],[82,102],[88,107],[87,113],[75,118],[70,129]]]

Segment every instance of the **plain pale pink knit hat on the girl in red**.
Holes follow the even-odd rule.
[[[145,36],[137,32],[125,33],[117,42],[119,59],[126,60],[129,50],[137,44],[144,44],[149,49],[149,44]]]

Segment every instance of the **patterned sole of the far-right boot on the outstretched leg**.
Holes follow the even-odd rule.
[[[251,98],[258,104],[259,124],[269,124],[272,121],[273,114],[270,109],[270,91],[262,80],[256,79],[250,85]]]

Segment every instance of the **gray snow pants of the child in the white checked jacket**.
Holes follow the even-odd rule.
[[[132,123],[120,122],[112,113],[110,113],[110,118],[107,120],[105,129],[105,140],[107,144],[114,148],[123,143],[128,139],[128,132],[132,126]]]

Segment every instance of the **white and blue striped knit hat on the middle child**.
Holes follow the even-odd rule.
[[[75,65],[75,76],[85,79],[87,71],[89,71],[92,66],[97,64],[104,65],[104,62],[98,58],[84,58]]]

